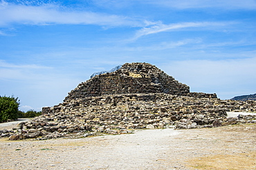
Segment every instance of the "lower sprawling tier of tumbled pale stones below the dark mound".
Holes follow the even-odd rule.
[[[190,129],[256,123],[253,115],[226,118],[226,111],[256,111],[256,101],[163,93],[105,94],[44,107],[42,116],[24,124],[19,138],[42,136],[46,139],[97,133],[122,134],[145,128]]]

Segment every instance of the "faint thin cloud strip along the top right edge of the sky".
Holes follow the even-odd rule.
[[[141,1],[141,0],[138,0]],[[169,8],[188,9],[188,8],[221,8],[221,9],[256,9],[254,0],[148,0],[146,3],[152,3]]]

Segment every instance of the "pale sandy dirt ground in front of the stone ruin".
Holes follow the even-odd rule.
[[[256,124],[0,143],[0,169],[256,169]]]

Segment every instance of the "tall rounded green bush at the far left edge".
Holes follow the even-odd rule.
[[[19,117],[19,99],[15,97],[0,96],[0,123],[8,119],[17,120]]]

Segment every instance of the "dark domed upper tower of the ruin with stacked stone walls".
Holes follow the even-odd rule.
[[[156,66],[132,63],[123,65],[116,72],[100,74],[80,83],[64,101],[104,94],[165,93],[185,96],[189,92],[188,85],[179,83]]]

